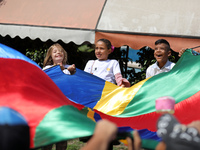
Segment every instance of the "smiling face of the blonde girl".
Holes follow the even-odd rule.
[[[57,47],[54,47],[51,52],[51,57],[53,60],[53,65],[62,64],[64,59],[64,52]]]

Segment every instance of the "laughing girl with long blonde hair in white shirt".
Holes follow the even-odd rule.
[[[58,43],[53,44],[47,50],[47,54],[44,59],[43,65],[44,65],[43,70],[48,69],[55,65],[60,65],[62,71],[65,74],[73,75],[76,72],[74,64],[73,65],[67,64],[67,52]],[[56,150],[66,150],[66,148],[67,148],[67,141],[56,143]],[[42,148],[42,150],[51,150],[51,149],[52,145],[48,145]]]

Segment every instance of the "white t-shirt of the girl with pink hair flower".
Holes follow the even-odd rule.
[[[89,60],[84,71],[114,84],[116,84],[115,75],[121,73],[119,63],[114,59]]]

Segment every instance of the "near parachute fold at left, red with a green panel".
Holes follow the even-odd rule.
[[[0,51],[2,47],[12,50],[0,44]],[[13,56],[18,54],[12,52]],[[0,107],[11,108],[25,118],[30,127],[31,148],[93,134],[95,122],[78,110],[84,106],[66,98],[38,66],[27,62],[25,56],[2,56]]]

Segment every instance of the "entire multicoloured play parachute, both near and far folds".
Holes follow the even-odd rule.
[[[144,148],[153,149],[160,141],[155,132],[160,116],[155,112],[158,97],[175,98],[174,115],[181,123],[200,119],[197,107],[200,103],[199,63],[200,56],[186,51],[170,72],[143,80],[130,88],[121,88],[78,69],[75,75],[66,75],[59,66],[45,71],[52,82],[32,62],[0,58],[3,66],[0,67],[0,92],[4,93],[0,95],[0,106],[8,106],[27,119],[31,127],[31,147],[92,135],[95,123],[90,119],[106,118],[115,122],[120,131],[139,130]],[[71,110],[70,114],[68,110]],[[70,115],[74,117],[66,118]],[[81,124],[82,130],[78,126],[79,121],[83,122],[80,117],[85,120],[85,126]],[[72,132],[63,135],[62,131],[69,129],[70,122],[73,123],[70,128],[76,127],[72,127],[77,133],[75,136]]]

